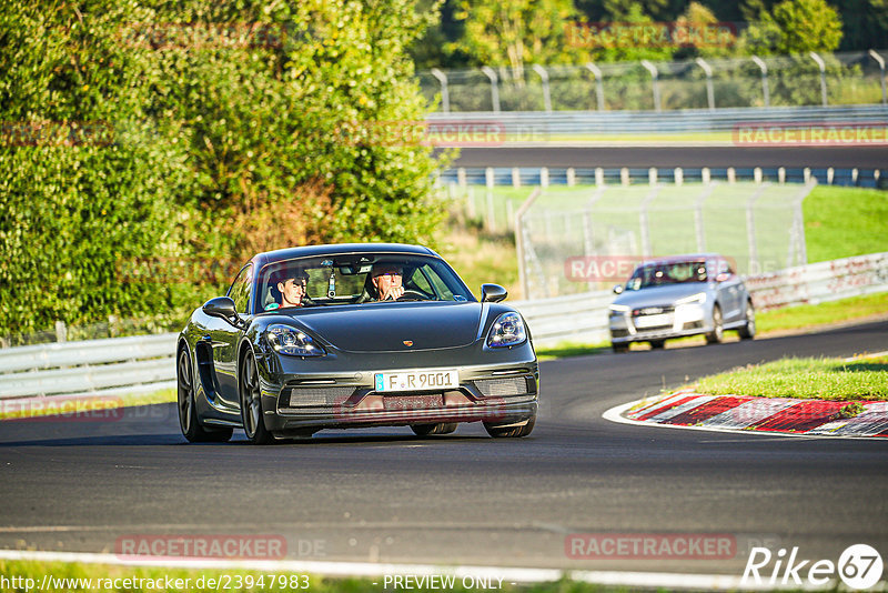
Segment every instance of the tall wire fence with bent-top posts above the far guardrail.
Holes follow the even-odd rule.
[[[623,111],[886,103],[888,50],[420,72],[440,111]]]

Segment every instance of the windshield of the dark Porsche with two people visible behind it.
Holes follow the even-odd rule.
[[[265,265],[259,311],[389,301],[475,301],[442,260],[403,253],[300,258]]]

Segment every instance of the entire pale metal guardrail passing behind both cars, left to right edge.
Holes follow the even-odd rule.
[[[746,280],[756,308],[817,303],[888,291],[888,252],[791,268]],[[608,339],[609,291],[513,301],[537,345]],[[0,350],[0,400],[124,395],[175,386],[175,333]]]

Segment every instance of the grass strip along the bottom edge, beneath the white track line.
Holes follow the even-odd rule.
[[[0,561],[0,576],[3,576],[7,580],[16,577],[14,582],[0,585],[0,592],[34,591],[40,586],[44,575],[47,574],[52,575],[52,582],[58,584],[58,586],[47,586],[46,589],[41,589],[43,593],[68,593],[71,591],[145,591],[151,593],[155,593],[157,591],[176,591],[181,593],[196,593],[204,591],[228,591],[232,593],[248,591],[255,593],[292,593],[295,591],[305,591],[311,593],[362,593],[375,591],[382,592],[386,590],[392,591],[396,589],[391,583],[387,587],[385,587],[383,577],[327,579],[313,575],[301,575],[296,573],[262,573],[258,571],[241,570],[216,571],[164,567],[130,567],[62,562],[42,563]],[[28,579],[31,581],[26,581]],[[124,579],[130,579],[130,581],[124,582]],[[63,586],[63,584],[59,583],[59,580],[80,581],[68,581],[68,586]],[[84,580],[91,580],[91,582],[87,583]],[[210,584],[211,580],[212,584]],[[172,584],[168,586],[170,581],[172,581]],[[494,580],[493,583],[498,585],[496,580]],[[29,584],[31,586],[27,586]],[[471,585],[471,583],[465,581],[465,585]],[[411,591],[441,591],[441,587],[421,586],[416,589],[411,587]],[[476,592],[483,591],[483,587],[464,586],[463,580],[461,577],[456,577],[454,579],[454,586],[447,587],[446,591]],[[514,591],[522,593],[597,593],[620,592],[628,590],[625,587],[610,587],[588,583],[577,583],[565,579],[553,583],[542,583],[526,586],[512,585],[503,582],[501,591]]]

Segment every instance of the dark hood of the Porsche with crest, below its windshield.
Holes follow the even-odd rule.
[[[339,350],[404,352],[471,344],[481,315],[477,302],[389,302],[306,309],[293,320]]]

